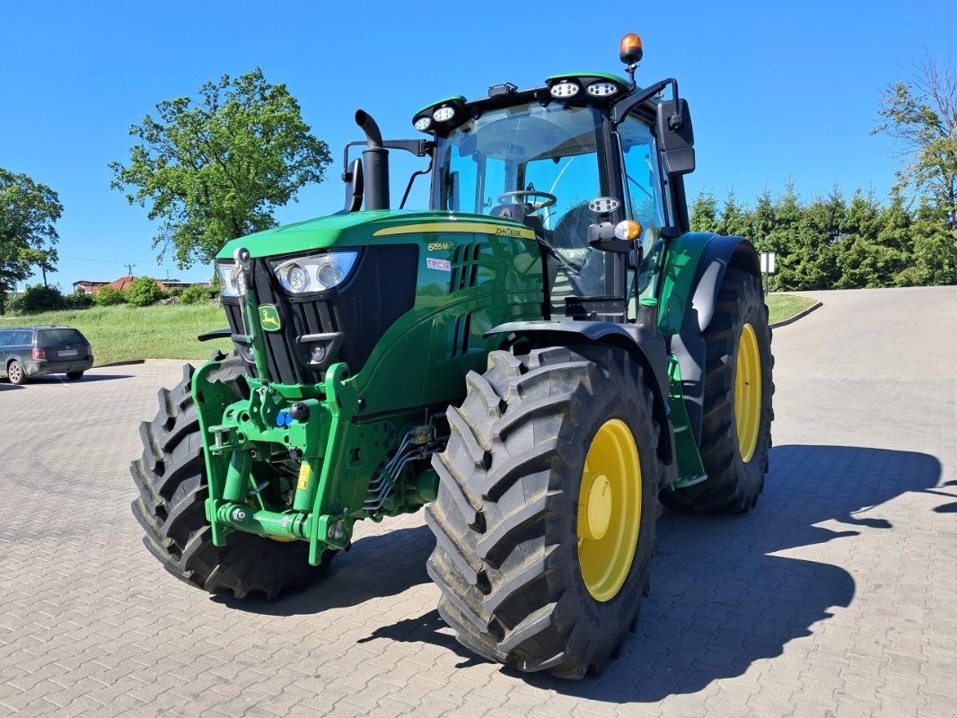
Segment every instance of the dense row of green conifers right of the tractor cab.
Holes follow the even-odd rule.
[[[802,202],[789,183],[776,201],[765,191],[748,207],[732,192],[717,208],[713,195],[699,195],[691,229],[746,236],[759,252],[775,252],[776,289],[955,282],[946,211],[926,199],[910,207],[901,191],[893,191],[886,204],[860,190],[849,202],[837,188]]]

